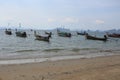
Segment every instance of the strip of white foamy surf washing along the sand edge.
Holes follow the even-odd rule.
[[[30,63],[40,63],[46,61],[59,61],[59,60],[71,60],[71,59],[89,59],[89,58],[97,58],[97,57],[107,57],[114,56],[113,54],[100,54],[100,55],[70,55],[70,56],[56,56],[49,58],[16,58],[16,59],[1,59],[0,65],[9,65],[9,64],[30,64]]]

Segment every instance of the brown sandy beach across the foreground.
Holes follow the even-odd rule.
[[[120,56],[0,65],[0,80],[120,80]]]

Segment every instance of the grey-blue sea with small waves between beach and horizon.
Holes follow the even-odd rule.
[[[120,38],[109,38],[108,41],[87,40],[85,36],[70,31],[72,37],[60,37],[56,30],[36,30],[37,34],[46,36],[51,32],[50,42],[35,40],[34,30],[26,31],[27,37],[6,35],[0,30],[0,64],[24,64],[44,61],[56,61],[77,58],[93,58],[100,56],[120,55]],[[89,34],[103,37],[105,32],[88,31]]]

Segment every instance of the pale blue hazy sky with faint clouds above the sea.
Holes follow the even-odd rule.
[[[120,29],[120,0],[0,0],[0,27]]]

